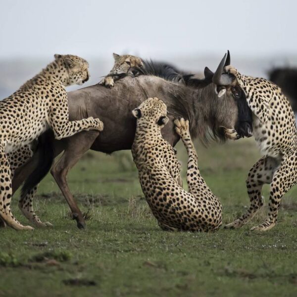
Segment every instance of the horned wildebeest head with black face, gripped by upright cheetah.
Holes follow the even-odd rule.
[[[220,140],[250,137],[252,132],[252,114],[247,105],[245,93],[234,77],[223,73],[224,67],[230,64],[230,54],[226,54],[217,71],[213,73],[208,67],[204,69],[204,79],[196,79],[193,75],[184,75],[187,86],[204,90],[203,97],[211,100],[211,113],[208,126],[212,135]],[[205,102],[206,103],[206,102]],[[197,125],[203,127],[201,123]],[[197,129],[196,128],[196,129]],[[204,134],[198,132],[198,134]],[[206,134],[207,141],[207,134]]]

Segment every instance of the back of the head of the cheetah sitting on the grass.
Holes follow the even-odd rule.
[[[143,101],[137,108],[132,110],[132,114],[137,118],[137,124],[157,125],[160,129],[169,121],[167,106],[156,97]]]

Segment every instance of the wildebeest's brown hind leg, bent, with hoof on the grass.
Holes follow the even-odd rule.
[[[71,137],[61,158],[52,166],[50,171],[71,209],[72,218],[76,220],[77,227],[80,229],[85,228],[85,219],[69,190],[67,174],[81,156],[91,148],[98,136],[99,131],[88,131]]]

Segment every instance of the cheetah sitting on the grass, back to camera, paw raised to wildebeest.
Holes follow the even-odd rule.
[[[189,121],[175,120],[175,130],[189,156],[189,192],[179,185],[181,164],[161,135],[168,122],[167,107],[148,98],[132,111],[137,127],[132,155],[148,205],[165,231],[215,231],[222,224],[222,205],[207,187],[198,169],[198,157],[189,132]]]

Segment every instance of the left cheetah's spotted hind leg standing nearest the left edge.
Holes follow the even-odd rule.
[[[0,145],[0,217],[15,230],[33,230],[31,226],[23,226],[11,213],[10,201],[12,196],[11,171],[9,160],[4,148]]]

